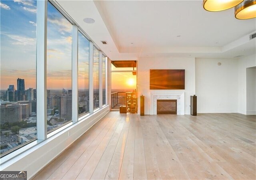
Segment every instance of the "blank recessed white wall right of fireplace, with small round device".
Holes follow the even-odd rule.
[[[196,59],[198,113],[238,112],[237,71],[238,59]]]

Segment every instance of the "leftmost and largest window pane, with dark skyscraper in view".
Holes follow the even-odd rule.
[[[36,139],[36,7],[1,0],[1,157]]]

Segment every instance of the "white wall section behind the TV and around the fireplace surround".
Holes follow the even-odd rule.
[[[138,97],[145,96],[145,114],[150,114],[150,92],[163,90],[149,89],[150,69],[185,69],[185,90],[164,90],[185,92],[185,114],[190,114],[190,95],[195,94],[195,59],[187,57],[143,57],[138,60]],[[138,107],[140,107],[140,102]],[[138,109],[138,114],[140,109]]]

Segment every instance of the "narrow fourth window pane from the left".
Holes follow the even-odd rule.
[[[94,46],[93,47],[93,109],[99,107],[100,99],[100,83],[99,83],[99,50]]]

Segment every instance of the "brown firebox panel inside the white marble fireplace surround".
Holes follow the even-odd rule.
[[[176,99],[157,99],[156,114],[157,115],[176,115],[177,100]]]

